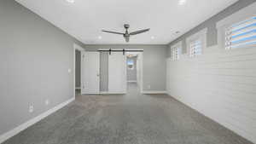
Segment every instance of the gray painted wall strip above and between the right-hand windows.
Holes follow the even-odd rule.
[[[185,54],[187,52],[186,49],[186,42],[185,39],[193,34],[195,34],[196,32],[201,31],[204,28],[207,28],[207,47],[216,45],[218,43],[218,32],[216,29],[216,23],[219,20],[223,20],[225,17],[230,16],[230,14],[234,14],[236,11],[247,7],[248,5],[250,5],[251,3],[256,2],[255,0],[239,0],[237,3],[234,3],[233,5],[231,5],[229,8],[224,9],[222,12],[212,16],[212,18],[206,20],[205,22],[201,23],[199,26],[196,26],[194,29],[190,30],[189,32],[186,32],[185,34],[183,34],[183,36],[178,37],[176,40],[172,41],[172,43],[169,43],[169,45],[173,45],[175,43],[178,43],[180,41],[182,41],[183,43],[183,54]],[[171,56],[171,51],[170,49],[168,50],[168,57]]]

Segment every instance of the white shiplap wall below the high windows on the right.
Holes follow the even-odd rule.
[[[166,64],[169,95],[256,143],[256,48],[216,46]]]

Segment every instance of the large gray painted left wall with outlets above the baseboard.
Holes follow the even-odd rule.
[[[67,70],[73,70],[73,43],[79,42],[14,0],[0,1],[0,18],[2,135],[73,97]]]

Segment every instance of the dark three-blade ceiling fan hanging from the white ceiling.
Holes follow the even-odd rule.
[[[125,27],[125,33],[111,32],[111,31],[105,31],[105,30],[102,30],[102,32],[108,32],[108,33],[123,35],[123,37],[125,37],[125,41],[128,43],[130,41],[130,36],[134,36],[134,35],[137,35],[137,34],[140,34],[140,33],[143,33],[143,32],[148,32],[150,30],[150,28],[148,28],[148,29],[139,30],[139,31],[136,31],[136,32],[129,33],[128,29],[129,29],[130,25],[125,24],[124,27]]]

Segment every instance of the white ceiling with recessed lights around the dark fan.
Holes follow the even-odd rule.
[[[85,44],[125,43],[121,35],[101,32],[124,32],[125,23],[131,25],[131,32],[151,28],[131,37],[130,43],[166,44],[237,0],[187,0],[184,5],[178,4],[180,0],[16,1]]]

